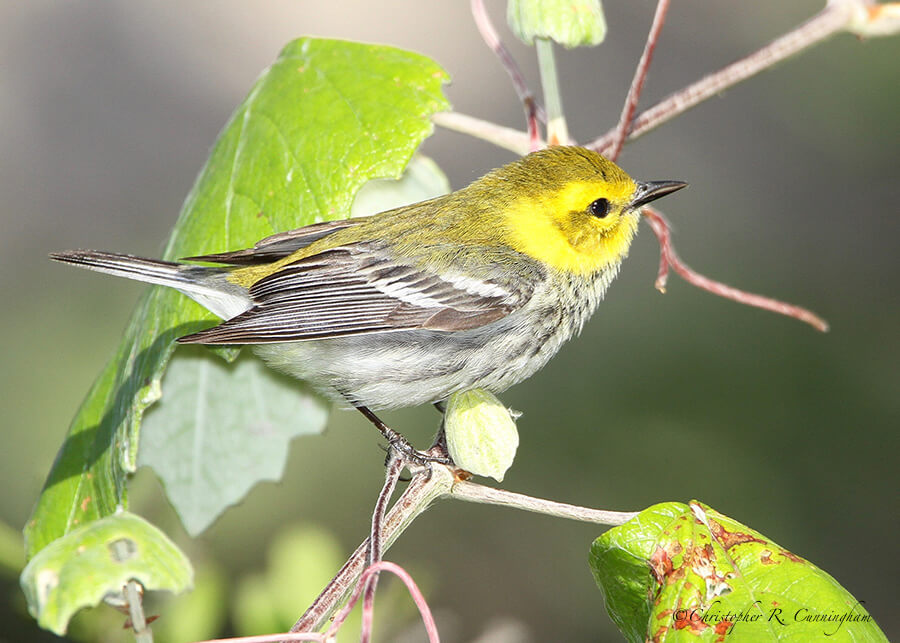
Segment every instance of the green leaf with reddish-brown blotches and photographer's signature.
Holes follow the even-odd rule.
[[[629,641],[887,641],[831,576],[696,501],[609,530],[590,564]]]

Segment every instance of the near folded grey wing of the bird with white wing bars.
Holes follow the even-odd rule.
[[[459,331],[505,317],[531,296],[532,280],[502,270],[476,278],[411,263],[398,263],[364,243],[306,257],[253,284],[254,305],[246,312],[178,341],[265,344],[410,329]]]

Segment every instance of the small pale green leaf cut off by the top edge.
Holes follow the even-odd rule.
[[[549,38],[569,48],[594,46],[606,37],[600,0],[509,0],[506,20],[526,45]]]

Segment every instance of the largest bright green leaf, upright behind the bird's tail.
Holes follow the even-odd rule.
[[[446,73],[391,47],[303,38],[256,82],[219,136],[164,258],[233,250],[346,217],[367,180],[397,177],[446,109]],[[173,340],[213,316],[151,288],[79,409],[25,528],[27,553],[126,504],[144,410],[160,397]],[[227,427],[222,427],[227,430]]]

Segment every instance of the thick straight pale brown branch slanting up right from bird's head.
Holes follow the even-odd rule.
[[[852,4],[856,3],[846,1],[829,3],[816,16],[793,31],[773,40],[759,51],[745,56],[724,69],[709,74],[693,85],[663,99],[638,115],[631,126],[628,140],[634,140],[638,136],[646,134],[728,87],[746,80],[846,28],[851,19],[856,16]],[[617,129],[610,130],[585,147],[600,154],[608,154],[616,136]]]

